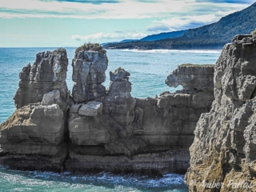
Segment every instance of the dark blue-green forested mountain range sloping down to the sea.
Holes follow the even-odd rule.
[[[250,34],[256,28],[256,2],[245,10],[229,14],[218,22],[190,30],[153,34],[139,40],[112,42],[106,49],[222,49],[236,34]]]

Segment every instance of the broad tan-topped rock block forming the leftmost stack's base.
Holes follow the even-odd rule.
[[[14,169],[62,171],[67,154],[63,138],[58,105],[23,106],[0,125],[0,162]]]

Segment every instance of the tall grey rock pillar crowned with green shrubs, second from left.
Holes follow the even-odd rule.
[[[76,50],[72,62],[74,102],[87,102],[106,94],[102,82],[106,80],[107,65],[106,50],[101,46],[87,44]]]

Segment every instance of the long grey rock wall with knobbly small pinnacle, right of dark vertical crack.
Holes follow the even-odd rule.
[[[212,70],[208,77],[213,78]],[[159,98],[133,98],[129,76],[122,68],[110,72],[110,88],[101,99],[103,114],[80,114],[87,104],[71,107],[68,122],[72,146],[65,164],[67,170],[186,172],[194,128],[200,115],[210,110],[213,87],[208,87],[211,91],[193,89],[182,90],[182,94],[166,92]]]

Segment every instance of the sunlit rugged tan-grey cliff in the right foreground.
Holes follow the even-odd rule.
[[[199,119],[190,147],[190,191],[255,191],[255,66],[251,35],[238,35],[223,48],[214,72],[215,100]]]

